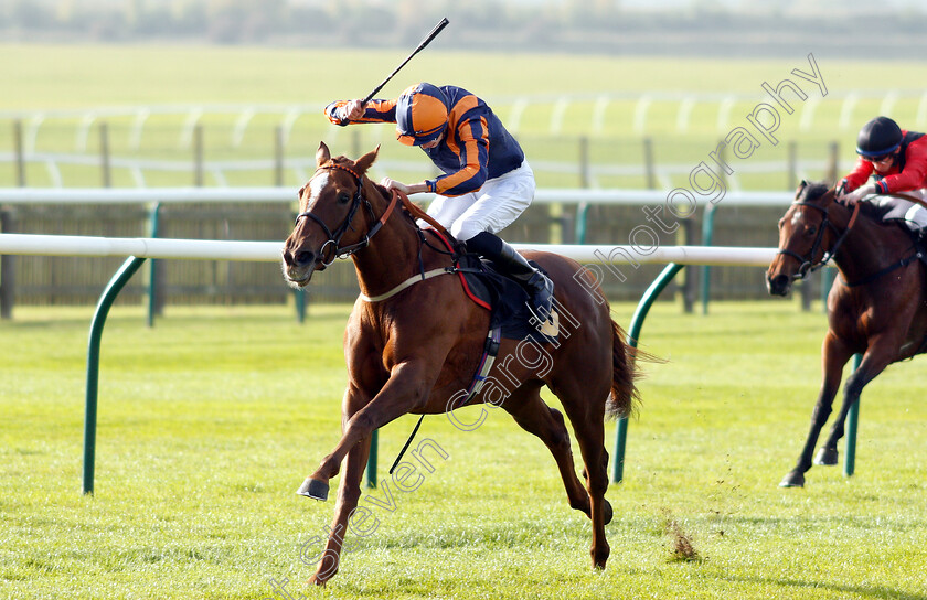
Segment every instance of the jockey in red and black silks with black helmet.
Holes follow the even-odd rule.
[[[841,181],[838,200],[854,204],[867,195],[898,192],[927,199],[924,133],[903,131],[888,117],[876,117],[860,130],[856,153],[856,169]]]

